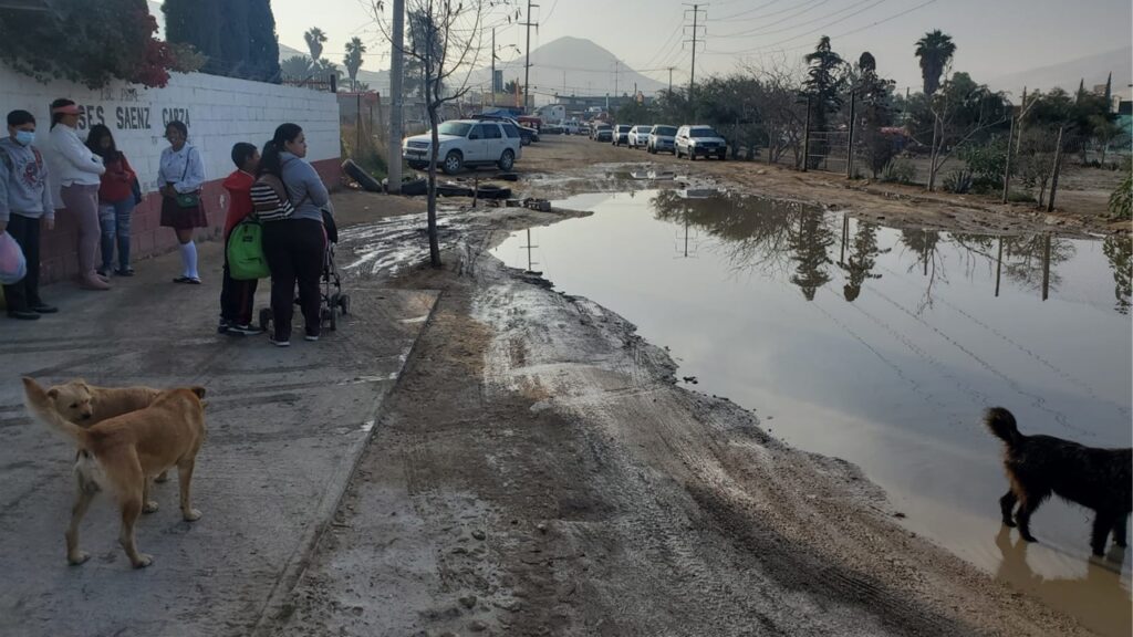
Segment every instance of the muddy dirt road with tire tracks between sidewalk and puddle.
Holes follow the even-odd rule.
[[[632,153],[590,148],[525,150],[527,192],[603,189],[606,168],[593,163]],[[552,167],[559,176],[533,175]],[[759,187],[798,182],[775,172]],[[948,219],[936,216],[944,204],[808,188]],[[487,254],[509,231],[557,219],[453,211],[445,267],[398,271],[394,284],[441,299],[333,525],[261,634],[1088,634],[898,526],[854,467],[678,387],[665,350],[622,317]],[[351,272],[398,267],[374,254],[419,263],[419,224],[349,235]]]

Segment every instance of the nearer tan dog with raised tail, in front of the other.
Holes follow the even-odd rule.
[[[147,567],[153,558],[137,550],[134,525],[151,476],[177,466],[181,491],[181,516],[189,521],[201,517],[190,503],[190,483],[197,451],[205,438],[204,388],[171,389],[160,393],[148,407],[109,418],[83,428],[63,417],[54,401],[32,379],[24,379],[24,405],[36,419],[75,443],[79,458],[78,499],[67,528],[67,560],[85,562],[90,555],[78,549],[78,525],[95,493],[105,489],[114,494],[121,511],[122,527],[118,542],[135,568]]]

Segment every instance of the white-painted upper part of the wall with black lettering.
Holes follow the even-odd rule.
[[[203,74],[173,74],[164,88],[145,88],[114,82],[91,90],[70,82],[40,84],[31,77],[0,65],[0,118],[14,109],[35,116],[39,144],[46,144],[51,125],[49,104],[68,97],[85,111],[79,136],[94,124],[113,131],[118,147],[138,172],[143,188],[155,190],[157,162],[164,141],[165,122],[185,121],[189,143],[201,150],[205,177],[221,179],[233,170],[232,145],[249,142],[263,146],[275,127],[290,121],[303,127],[307,137],[307,160],[338,159],[339,105],[331,93],[232,79]],[[0,128],[7,135],[7,128]]]

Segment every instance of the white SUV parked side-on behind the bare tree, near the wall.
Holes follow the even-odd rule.
[[[506,121],[454,119],[437,126],[437,163],[448,175],[455,175],[465,167],[491,165],[511,170],[519,159],[521,141],[519,128]],[[401,156],[409,168],[428,167],[433,146],[431,133],[406,137]]]

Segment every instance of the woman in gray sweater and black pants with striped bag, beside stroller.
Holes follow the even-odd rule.
[[[283,124],[264,146],[259,175],[274,175],[287,188],[295,213],[288,219],[263,223],[264,256],[272,271],[272,342],[291,345],[291,315],[296,284],[306,323],[305,339],[317,341],[322,332],[318,278],[323,272],[326,231],[323,207],[330,201],[326,186],[307,156],[303,128]]]

